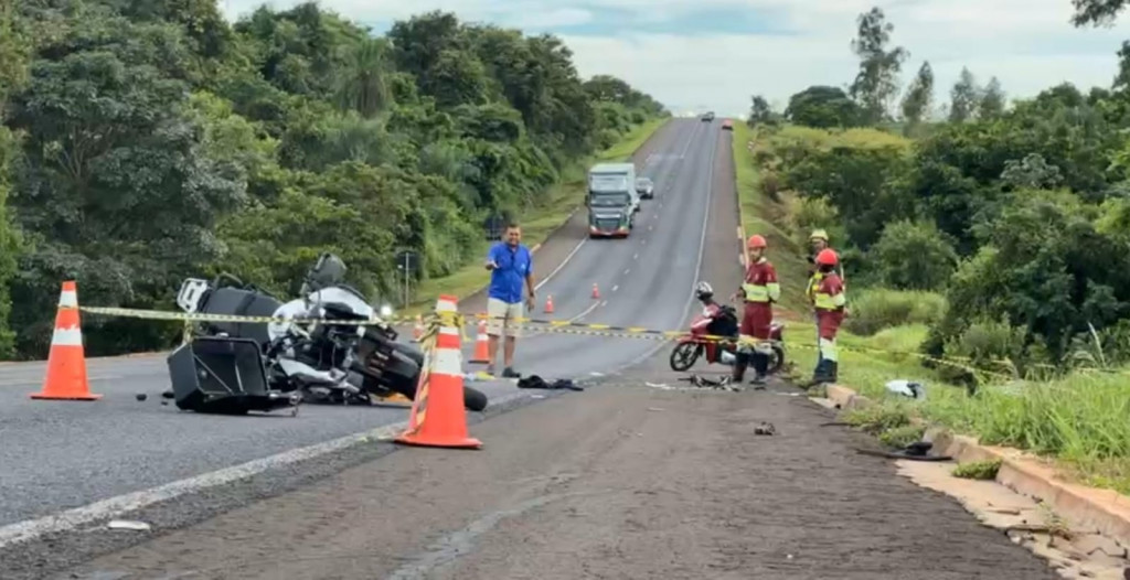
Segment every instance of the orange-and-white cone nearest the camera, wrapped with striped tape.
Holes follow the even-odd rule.
[[[454,313],[455,298],[441,296],[437,313]],[[402,445],[478,449],[483,441],[468,437],[463,408],[463,354],[459,350],[460,329],[445,324],[435,339],[435,348],[424,353],[425,368],[416,387],[416,399],[408,418],[408,429],[395,439]]]

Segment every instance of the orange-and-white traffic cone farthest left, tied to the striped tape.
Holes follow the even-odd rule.
[[[59,293],[59,314],[55,315],[55,332],[51,335],[51,352],[47,354],[47,376],[43,390],[33,393],[32,398],[97,401],[102,395],[90,393],[86,377],[86,353],[82,350],[82,329],[78,317],[78,290],[75,282],[63,282]]]

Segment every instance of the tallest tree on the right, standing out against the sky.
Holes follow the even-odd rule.
[[[887,50],[895,26],[886,21],[878,7],[861,14],[852,51],[860,58],[859,73],[850,94],[859,103],[867,123],[878,123],[887,116],[890,99],[898,91],[898,72],[910,53],[902,46]]]

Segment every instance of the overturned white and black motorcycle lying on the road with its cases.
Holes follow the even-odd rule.
[[[296,404],[296,397],[371,404],[372,396],[399,393],[414,399],[423,351],[397,341],[395,329],[379,322],[364,295],[344,283],[346,271],[340,258],[322,254],[306,273],[302,297],[285,304],[231,274],[211,282],[186,279],[176,304],[189,314],[285,319],[197,323],[199,337],[168,358],[176,405],[245,413]],[[483,411],[487,396],[463,387],[463,403]]]

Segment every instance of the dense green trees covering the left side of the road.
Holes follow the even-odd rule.
[[[666,114],[571,59],[443,12],[376,37],[313,2],[229,25],[216,0],[0,0],[0,354],[45,352],[63,279],[144,308],[220,270],[289,293],[324,249],[371,293],[399,248],[451,273],[488,214]],[[84,331],[102,354],[171,328]]]

